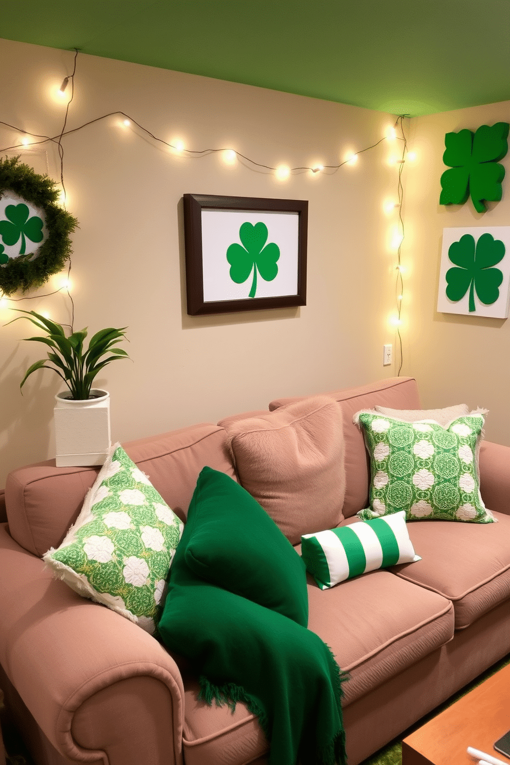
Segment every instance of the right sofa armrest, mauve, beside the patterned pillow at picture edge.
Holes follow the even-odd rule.
[[[482,441],[480,493],[489,510],[510,515],[510,447]]]

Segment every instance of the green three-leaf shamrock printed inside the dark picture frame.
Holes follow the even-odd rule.
[[[278,274],[276,262],[280,257],[280,248],[274,242],[265,246],[268,240],[268,227],[265,223],[243,223],[239,229],[242,244],[231,244],[226,251],[230,263],[230,278],[240,285],[245,282],[253,269],[252,288],[249,298],[255,298],[257,291],[257,271],[266,282],[272,282]]]

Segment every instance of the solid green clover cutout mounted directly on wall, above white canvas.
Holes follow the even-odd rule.
[[[450,166],[441,175],[440,204],[463,204],[469,194],[478,213],[486,211],[483,200],[499,202],[505,168],[498,160],[508,151],[508,122],[482,125],[476,133],[447,133],[443,162]]]

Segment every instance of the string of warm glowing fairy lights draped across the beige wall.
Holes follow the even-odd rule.
[[[395,238],[395,248],[397,249],[397,259],[398,259],[398,263],[396,266],[398,295],[397,295],[397,316],[395,317],[393,323],[397,327],[398,340],[400,345],[401,363],[398,369],[398,375],[400,375],[402,363],[403,363],[403,357],[402,357],[402,340],[401,340],[400,330],[398,330],[398,327],[401,324],[402,298],[404,296],[404,284],[402,279],[403,269],[401,268],[401,245],[404,240],[404,220],[402,218],[402,203],[403,203],[404,194],[403,194],[403,186],[401,183],[401,173],[404,167],[405,155],[407,152],[407,140],[404,134],[403,120],[404,120],[404,117],[408,115],[398,116],[398,119],[395,122],[395,125],[389,128],[386,131],[386,134],[383,135],[382,138],[380,138],[377,142],[373,143],[372,145],[366,146],[365,148],[359,149],[358,151],[350,151],[349,155],[347,155],[344,161],[339,162],[338,164],[314,164],[312,167],[303,165],[303,166],[298,166],[294,168],[290,168],[286,164],[279,164],[278,166],[273,167],[270,164],[264,164],[264,163],[255,161],[255,159],[252,159],[248,157],[247,155],[243,155],[240,151],[236,151],[232,148],[204,148],[204,149],[185,148],[184,143],[180,140],[175,139],[174,142],[164,141],[163,138],[159,138],[157,135],[154,135],[154,133],[148,130],[147,128],[145,128],[144,125],[141,125],[139,122],[133,119],[132,116],[122,111],[109,112],[102,116],[96,117],[95,119],[91,119],[88,122],[84,122],[82,125],[79,125],[76,128],[66,130],[67,117],[69,114],[70,104],[72,103],[73,96],[74,96],[74,77],[76,74],[76,59],[78,57],[78,53],[80,49],[75,47],[73,48],[73,50],[75,50],[75,55],[73,60],[73,72],[67,77],[64,77],[63,83],[60,86],[60,90],[59,90],[60,95],[65,96],[65,91],[67,90],[67,87],[69,86],[69,83],[70,83],[71,95],[70,95],[70,99],[67,102],[67,108],[66,108],[66,113],[63,120],[62,130],[60,131],[58,135],[54,135],[54,136],[38,135],[28,131],[20,130],[18,128],[15,128],[14,125],[9,125],[7,122],[3,122],[2,120],[0,120],[0,125],[5,125],[8,128],[17,130],[18,134],[21,134],[23,136],[23,138],[21,138],[21,143],[2,148],[0,149],[0,152],[10,151],[12,149],[21,148],[21,147],[26,148],[27,145],[30,145],[30,146],[42,145],[47,142],[53,142],[57,144],[59,157],[60,157],[60,184],[62,186],[63,207],[65,207],[66,205],[67,194],[66,194],[66,188],[65,188],[65,184],[63,180],[64,152],[63,152],[62,139],[64,138],[64,136],[71,135],[72,133],[85,129],[89,125],[93,125],[96,122],[101,122],[112,116],[120,116],[121,118],[123,118],[122,125],[125,128],[131,128],[133,125],[135,125],[139,130],[141,130],[141,132],[145,133],[145,135],[148,135],[155,142],[161,143],[167,146],[168,148],[170,148],[175,155],[179,155],[181,157],[186,157],[186,156],[205,157],[207,155],[219,154],[219,155],[223,155],[223,160],[226,164],[235,164],[236,160],[243,159],[247,163],[249,163],[248,167],[252,166],[253,168],[260,168],[262,170],[266,170],[270,173],[273,173],[275,177],[277,177],[278,180],[280,181],[285,181],[291,176],[291,174],[297,174],[302,171],[309,171],[310,174],[313,176],[323,174],[324,171],[336,172],[340,168],[342,168],[344,165],[356,164],[357,161],[359,160],[359,155],[363,154],[365,151],[371,151],[372,149],[376,148],[378,145],[380,145],[384,141],[395,142],[395,140],[397,139],[402,141],[404,146],[403,146],[401,158],[400,159],[397,159],[395,157],[390,158],[390,164],[398,164],[398,202],[385,203],[385,212],[387,213],[390,213],[391,210],[395,210],[398,208],[398,236],[396,236]],[[401,133],[400,136],[397,135],[398,129],[400,130],[400,133]],[[29,136],[30,138],[28,138]],[[36,139],[36,140],[31,140],[31,139]],[[411,154],[408,155],[408,159],[411,160]],[[70,286],[71,286],[70,271],[71,271],[71,260],[69,259],[69,268],[67,269],[67,278],[65,278],[65,281],[63,281],[60,288],[52,292],[49,292],[46,295],[34,295],[28,298],[7,298],[5,295],[3,295],[2,292],[0,292],[0,306],[5,303],[5,300],[9,300],[9,301],[33,300],[36,298],[49,297],[50,295],[56,295],[60,291],[65,290],[67,291],[67,295],[70,298],[70,302],[71,302],[71,324],[64,325],[64,326],[70,327],[70,330],[73,331],[74,302],[73,302],[72,295],[70,294]]]

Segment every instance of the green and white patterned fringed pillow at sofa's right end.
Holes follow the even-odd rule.
[[[405,510],[408,520],[495,522],[480,495],[478,470],[482,414],[456,418],[447,428],[432,420],[404,422],[362,411],[370,455],[370,507],[363,520]]]

